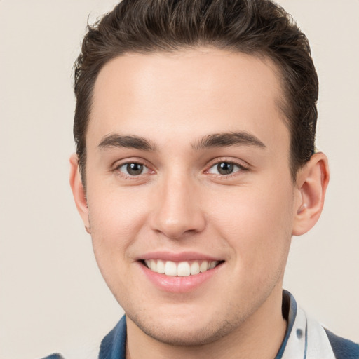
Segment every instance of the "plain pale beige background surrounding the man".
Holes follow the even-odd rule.
[[[110,0],[0,1],[0,358],[90,346],[121,309],[103,283],[68,185],[72,64]],[[285,287],[359,341],[359,1],[281,0],[320,77],[318,147],[332,178],[315,229],[294,238]]]

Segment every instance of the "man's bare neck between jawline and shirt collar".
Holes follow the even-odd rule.
[[[225,337],[200,346],[172,346],[144,334],[127,318],[126,359],[273,359],[285,336],[282,290],[275,289],[262,306]]]

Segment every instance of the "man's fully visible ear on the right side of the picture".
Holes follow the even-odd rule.
[[[327,156],[318,152],[297,172],[294,200],[293,236],[300,236],[318,221],[323,210],[325,191],[329,182]]]

